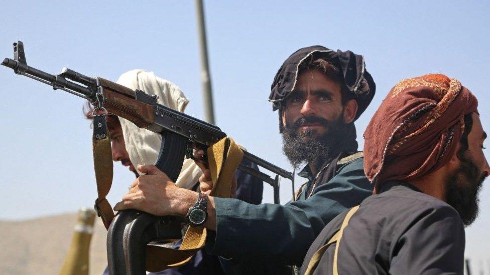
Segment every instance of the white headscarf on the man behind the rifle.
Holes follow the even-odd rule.
[[[122,74],[117,83],[132,90],[142,90],[150,95],[157,95],[157,103],[184,112],[189,99],[180,88],[165,79],[156,77],[153,72],[145,70],[132,70]],[[126,150],[130,160],[137,167],[138,164],[155,164],[162,143],[162,136],[150,130],[142,129],[133,122],[119,117],[122,134],[126,143]],[[138,171],[138,173],[140,173]],[[185,159],[175,184],[181,188],[190,189],[199,181],[201,170],[191,159]]]

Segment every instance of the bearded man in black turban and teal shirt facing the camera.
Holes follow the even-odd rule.
[[[285,265],[301,264],[325,224],[372,193],[363,174],[362,153],[357,152],[353,122],[374,94],[375,83],[365,70],[364,58],[350,51],[313,46],[296,51],[284,62],[270,101],[274,110],[280,110],[284,152],[294,166],[307,162],[300,175],[308,183],[286,205],[252,205],[207,196],[206,246],[222,256],[228,272],[288,272]],[[135,181],[114,209],[185,216],[197,193],[179,190],[154,166],[140,169],[150,175]],[[206,189],[203,186],[211,189],[209,178],[202,179],[201,190]],[[142,203],[145,200],[158,206],[150,209]]]

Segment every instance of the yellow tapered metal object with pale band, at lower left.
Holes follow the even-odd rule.
[[[60,275],[88,275],[90,240],[93,233],[95,211],[86,207],[78,211],[78,222],[75,225],[71,246],[66,254]]]

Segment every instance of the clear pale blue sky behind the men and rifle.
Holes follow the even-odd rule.
[[[0,57],[12,57],[12,43],[22,40],[28,64],[50,73],[66,66],[116,80],[131,69],[154,71],[179,85],[191,99],[187,113],[202,118],[193,1],[8,1],[2,10]],[[468,87],[490,131],[488,2],[207,1],[205,13],[217,125],[284,168],[290,165],[267,97],[284,59],[304,46],[364,55],[377,95],[356,122],[360,146],[389,89],[426,73],[444,73]],[[82,116],[83,100],[4,67],[0,83],[0,219],[93,205],[91,132]],[[112,204],[133,180],[126,168],[115,167]],[[290,194],[284,180],[282,202]],[[271,188],[264,198],[272,202]],[[467,229],[466,251],[472,257],[481,253],[485,264],[489,225],[490,188],[485,187],[480,217]]]

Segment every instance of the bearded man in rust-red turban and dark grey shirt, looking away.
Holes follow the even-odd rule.
[[[376,195],[322,230],[302,273],[463,274],[463,226],[490,172],[476,107],[444,75],[398,83],[364,133]]]

